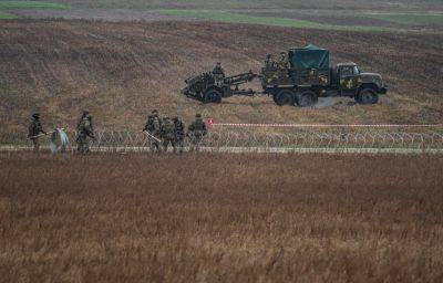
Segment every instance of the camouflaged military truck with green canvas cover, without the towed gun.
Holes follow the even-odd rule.
[[[388,87],[380,74],[363,73],[356,63],[329,66],[329,51],[309,44],[291,49],[285,64],[267,61],[261,69],[262,92],[277,105],[315,104],[319,96],[349,96],[361,104],[375,104]]]

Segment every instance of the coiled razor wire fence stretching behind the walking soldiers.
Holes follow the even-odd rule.
[[[76,133],[69,132],[70,147],[75,147]],[[189,147],[186,137],[184,146]],[[20,145],[30,145],[30,142]],[[153,140],[142,132],[96,130],[90,140],[95,151],[148,151]],[[443,128],[395,127],[212,127],[202,147],[245,149],[436,149],[443,150]]]

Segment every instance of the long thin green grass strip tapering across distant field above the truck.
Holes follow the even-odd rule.
[[[289,28],[306,28],[306,29],[323,29],[323,30],[349,30],[349,31],[395,31],[394,29],[381,27],[359,27],[359,25],[329,25],[318,22],[276,18],[276,17],[254,17],[247,14],[231,13],[226,11],[209,11],[209,10],[156,10],[166,15],[186,17],[195,19],[207,19],[219,22],[229,23],[249,23],[264,24],[275,27]]]

